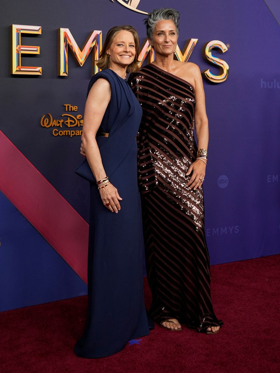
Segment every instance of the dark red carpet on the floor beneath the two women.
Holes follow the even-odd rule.
[[[73,346],[84,326],[87,298],[72,298],[0,313],[1,372],[280,372],[280,255],[211,271],[215,312],[225,324],[217,335],[156,326],[116,355],[81,359]]]

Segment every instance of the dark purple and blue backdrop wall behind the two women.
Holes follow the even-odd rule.
[[[71,55],[68,77],[57,76],[57,28],[69,28],[81,47],[92,30],[102,30],[104,39],[113,25],[130,23],[137,28],[143,42],[145,16],[110,0],[82,0],[79,4],[73,0],[59,3],[49,0],[39,6],[37,1],[29,0],[28,7],[18,0],[2,3],[0,130],[88,220],[88,185],[74,174],[81,161],[80,138],[54,137],[40,126],[44,114],[50,112],[59,118],[65,112],[65,103],[77,105],[78,113],[83,114],[91,77],[91,57],[81,68]],[[201,71],[210,68],[218,73],[217,68],[202,58],[206,42],[221,40],[230,45],[223,55],[214,52],[228,63],[228,79],[204,85],[210,129],[204,188],[211,263],[277,254],[280,252],[280,4],[275,0],[155,0],[151,5],[151,1],[141,0],[138,8],[149,12],[169,6],[181,13],[180,48],[183,49],[187,39],[198,38],[189,61],[197,63]],[[11,24],[42,26],[42,35],[22,36],[23,44],[40,45],[39,56],[24,57],[23,61],[26,65],[42,66],[42,76],[10,75]],[[11,264],[16,261],[19,244],[15,238],[9,238],[10,232],[28,222],[18,219],[16,228],[13,207],[8,208],[7,204],[1,197],[0,294],[5,302],[0,310],[85,294],[84,283],[66,269],[63,276],[68,276],[67,289],[53,285],[56,290],[50,291],[47,281],[42,281],[40,292],[37,286],[29,286],[36,282],[36,276],[25,276],[25,261],[17,266]],[[34,237],[38,235],[35,230],[29,231],[20,245],[21,255],[25,257],[32,255]],[[44,246],[44,250],[52,249]],[[28,264],[29,270],[38,268],[43,260],[52,267],[58,259],[44,255],[38,244],[37,256],[33,257],[32,265]],[[60,265],[67,266],[63,261],[56,265],[54,271],[58,274]],[[50,273],[46,271],[44,276],[47,278]],[[24,294],[16,291],[19,283],[25,283]],[[17,297],[9,297],[12,292]]]

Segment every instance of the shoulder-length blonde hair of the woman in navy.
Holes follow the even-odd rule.
[[[135,52],[136,52],[135,59],[133,60],[133,62],[131,62],[130,65],[127,66],[127,72],[131,73],[131,72],[135,72],[135,71],[139,70],[139,66],[138,66],[139,36],[137,34],[136,29],[134,27],[130,26],[130,25],[114,26],[114,27],[109,29],[109,31],[107,32],[106,39],[105,39],[105,42],[103,44],[102,50],[99,54],[99,60],[96,62],[96,65],[100,69],[104,70],[104,69],[109,68],[110,58],[108,57],[106,51],[111,46],[113,38],[116,36],[116,34],[118,34],[118,32],[122,31],[122,30],[131,32],[131,34],[133,35],[133,38],[134,38],[134,43],[135,43]]]

